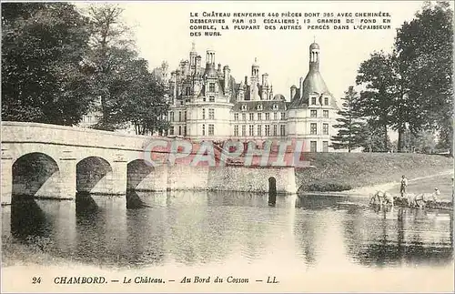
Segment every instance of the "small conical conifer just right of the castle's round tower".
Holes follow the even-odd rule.
[[[339,125],[333,127],[339,128],[337,136],[332,137],[332,147],[335,149],[348,148],[350,152],[353,148],[360,147],[365,139],[362,134],[362,125],[359,113],[354,110],[354,104],[358,98],[358,93],[354,90],[354,86],[349,86],[348,91],[342,98],[343,109],[338,112]]]

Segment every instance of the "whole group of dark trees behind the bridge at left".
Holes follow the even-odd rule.
[[[2,5],[2,119],[167,129],[166,89],[138,56],[118,5]]]

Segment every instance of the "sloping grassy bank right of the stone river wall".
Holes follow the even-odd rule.
[[[296,171],[299,193],[343,191],[351,188],[425,177],[453,170],[453,158],[411,153],[309,153],[316,168]]]

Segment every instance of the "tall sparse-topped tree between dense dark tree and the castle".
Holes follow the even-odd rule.
[[[94,126],[114,130],[126,124],[145,135],[167,128],[165,91],[139,58],[118,5],[92,5],[91,54],[86,62],[93,76],[94,96],[99,97],[101,119]]]

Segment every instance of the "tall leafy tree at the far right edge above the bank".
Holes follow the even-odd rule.
[[[397,32],[399,64],[406,68],[416,111],[410,127],[437,129],[453,154],[453,11],[447,1],[427,3]]]

